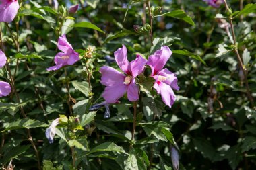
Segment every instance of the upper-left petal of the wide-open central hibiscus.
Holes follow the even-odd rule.
[[[100,81],[102,85],[113,86],[123,84],[125,81],[125,75],[123,75],[123,73],[109,66],[100,67],[100,73],[102,74]]]

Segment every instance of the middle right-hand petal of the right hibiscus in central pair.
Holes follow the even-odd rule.
[[[166,81],[164,81],[164,83],[170,85],[170,87],[172,87],[172,89],[175,90],[179,90],[180,87],[178,86],[178,79],[176,77],[176,75],[174,73],[172,73],[171,71],[169,71],[168,69],[162,69],[162,71],[158,72],[158,75],[162,75],[164,77],[166,77]]]

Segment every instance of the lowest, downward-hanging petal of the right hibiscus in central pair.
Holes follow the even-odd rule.
[[[158,85],[160,88],[162,101],[171,108],[174,101],[176,100],[176,95],[172,91],[172,88],[170,88],[169,85],[166,85],[166,83],[158,81]]]

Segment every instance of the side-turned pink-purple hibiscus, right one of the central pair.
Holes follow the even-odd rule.
[[[169,107],[172,106],[176,99],[172,89],[179,90],[177,77],[168,69],[162,69],[172,55],[168,46],[162,46],[153,55],[149,56],[147,65],[152,70],[152,77],[155,79],[154,89],[161,94],[162,101]]]

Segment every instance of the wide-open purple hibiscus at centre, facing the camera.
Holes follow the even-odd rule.
[[[135,60],[129,62],[125,45],[114,52],[114,55],[117,65],[123,73],[112,67],[100,67],[100,73],[102,73],[100,83],[106,86],[102,97],[106,103],[115,103],[127,92],[129,101],[137,101],[139,99],[139,87],[135,83],[135,77],[143,72],[147,60],[137,55]]]

